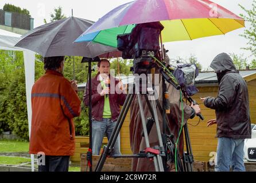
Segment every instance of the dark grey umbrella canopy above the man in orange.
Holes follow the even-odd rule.
[[[94,58],[117,51],[99,43],[73,43],[93,23],[82,18],[63,18],[29,31],[15,46],[35,51],[42,57],[73,55]]]

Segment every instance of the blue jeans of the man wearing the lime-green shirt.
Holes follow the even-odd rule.
[[[102,147],[102,141],[104,134],[107,139],[110,140],[110,136],[115,128],[117,121],[111,119],[102,118],[102,121],[92,120],[92,154],[99,155],[100,148]],[[120,134],[118,134],[117,141],[114,145],[114,154],[121,154],[120,152]]]

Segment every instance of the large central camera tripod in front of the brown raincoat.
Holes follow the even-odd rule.
[[[153,90],[149,90],[149,95],[153,95]],[[156,172],[164,172],[164,165],[162,162],[162,157],[165,156],[165,149],[164,149],[164,144],[162,142],[162,136],[161,136],[161,130],[160,130],[160,125],[157,117],[157,112],[156,112],[156,104],[154,101],[149,101],[148,96],[146,94],[141,94],[140,93],[140,88],[139,88],[139,78],[135,77],[135,94],[138,97],[138,104],[139,104],[139,113],[141,114],[141,120],[142,120],[142,127],[143,127],[143,134],[145,137],[145,142],[146,142],[146,149],[145,151],[139,153],[139,154],[134,154],[134,155],[113,155],[111,157],[114,158],[124,158],[124,157],[133,157],[133,158],[153,158],[154,161],[154,168]],[[143,112],[143,106],[142,106],[142,98],[141,96],[144,96],[147,104],[149,106],[150,113],[152,114],[155,124],[156,124],[156,129],[157,129],[157,137],[158,137],[158,142],[159,146],[154,146],[153,148],[150,147],[149,144],[149,138],[148,138],[148,130],[146,127],[146,120]],[[100,156],[100,159],[98,161],[98,164],[96,165],[96,172],[99,172],[102,170],[104,162],[106,161],[106,158],[109,154],[111,154],[115,141],[117,140],[118,134],[122,128],[123,122],[125,121],[125,117],[127,115],[127,112],[129,111],[131,102],[133,101],[134,97],[134,87],[129,87],[129,93],[127,94],[125,104],[123,105],[123,108],[121,110],[121,113],[119,114],[118,120],[117,120],[117,125],[115,126],[115,129],[113,130],[113,133],[111,134],[110,140],[108,141],[108,144],[106,148],[103,149],[103,153]],[[150,104],[151,103],[151,104]]]

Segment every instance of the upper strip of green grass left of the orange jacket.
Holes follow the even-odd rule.
[[[29,142],[0,140],[0,152],[29,152]]]

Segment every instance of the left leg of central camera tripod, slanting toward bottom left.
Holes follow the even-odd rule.
[[[117,125],[115,126],[115,129],[113,130],[113,133],[111,134],[111,137],[110,137],[110,140],[108,141],[107,147],[104,149],[102,155],[100,156],[98,164],[96,165],[96,168],[95,168],[95,172],[100,172],[102,170],[104,162],[106,161],[109,151],[114,147],[115,141],[117,140],[118,134],[123,125],[123,121],[125,121],[125,117],[127,115],[127,112],[129,111],[132,101],[133,101],[133,94],[128,94],[126,97],[126,100],[125,100],[125,104],[123,105],[123,108],[121,110],[121,113],[119,114],[119,117],[117,120]]]

